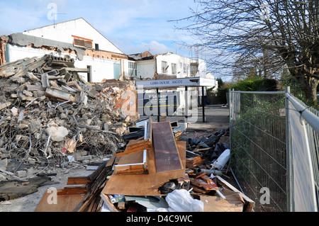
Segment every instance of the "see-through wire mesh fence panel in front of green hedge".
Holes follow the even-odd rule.
[[[286,118],[282,93],[230,93],[232,167],[257,211],[286,211]]]

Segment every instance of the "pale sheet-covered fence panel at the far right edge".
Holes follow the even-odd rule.
[[[291,94],[286,97],[293,157],[293,208],[294,211],[318,212],[319,113]]]

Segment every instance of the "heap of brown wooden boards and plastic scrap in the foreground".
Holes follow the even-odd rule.
[[[123,136],[123,152],[85,179],[69,178],[69,186],[58,192],[61,206],[48,206],[45,193],[36,211],[62,211],[65,206],[69,212],[252,211],[254,201],[223,179],[228,177],[224,169],[230,152],[222,150],[227,146],[220,138],[227,137],[228,130],[189,140],[186,133],[173,132],[169,121],[153,123],[148,118],[136,125],[140,122],[144,125],[136,132]],[[77,205],[69,203],[69,196]]]

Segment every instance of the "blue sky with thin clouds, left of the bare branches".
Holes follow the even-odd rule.
[[[150,51],[194,56],[194,50],[179,43],[196,40],[174,29],[185,22],[169,22],[191,16],[190,8],[197,6],[194,0],[0,0],[0,5],[0,35],[82,17],[125,54]],[[57,12],[55,20],[52,10]]]

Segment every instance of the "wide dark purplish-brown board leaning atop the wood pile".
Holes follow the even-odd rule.
[[[153,123],[152,127],[157,172],[182,169],[171,123]]]

